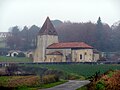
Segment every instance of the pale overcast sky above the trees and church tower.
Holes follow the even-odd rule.
[[[120,20],[120,0],[0,0],[0,32],[18,25],[42,26],[46,17],[51,20],[112,25]]]

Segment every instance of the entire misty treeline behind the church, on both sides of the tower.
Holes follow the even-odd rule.
[[[61,22],[55,28],[60,42],[86,42],[100,51],[120,51],[120,22],[110,27],[102,23],[99,17],[96,23]],[[7,45],[11,49],[34,49],[39,30],[35,25],[30,28],[25,26],[23,30],[15,26],[11,29],[12,35],[8,37]]]

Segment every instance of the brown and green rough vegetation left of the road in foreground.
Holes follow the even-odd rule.
[[[49,88],[62,83],[65,80],[55,80],[54,76],[44,76],[41,82],[40,76],[1,76],[0,89],[6,90],[37,90],[40,88]]]

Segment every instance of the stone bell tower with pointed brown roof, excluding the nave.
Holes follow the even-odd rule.
[[[34,62],[45,62],[46,48],[53,43],[58,43],[58,34],[49,17],[47,17],[37,36]]]

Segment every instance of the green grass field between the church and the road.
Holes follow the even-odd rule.
[[[119,64],[101,64],[101,65],[90,65],[90,64],[24,64],[23,66],[29,68],[48,68],[54,70],[60,70],[68,74],[75,74],[84,77],[94,75],[96,72],[104,73],[110,69],[120,70]]]

